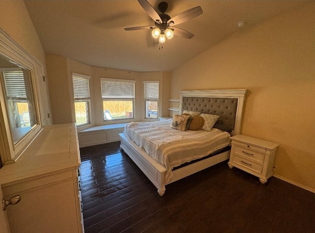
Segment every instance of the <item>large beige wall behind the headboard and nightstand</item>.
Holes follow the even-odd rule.
[[[171,97],[246,88],[242,133],[280,143],[274,173],[315,190],[315,3],[231,37],[172,73]],[[196,81],[198,80],[198,81]]]

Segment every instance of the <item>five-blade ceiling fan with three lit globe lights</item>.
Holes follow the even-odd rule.
[[[192,18],[195,18],[203,13],[201,7],[196,6],[171,18],[169,15],[164,14],[168,7],[167,2],[165,1],[162,1],[158,4],[158,10],[161,12],[161,14],[158,14],[158,12],[147,0],[138,0],[138,2],[148,13],[148,15],[154,20],[155,25],[126,27],[124,29],[126,31],[153,29],[152,36],[153,38],[158,38],[159,43],[164,43],[166,41],[166,38],[171,39],[174,35],[191,39],[194,36],[192,33],[174,26],[189,21]]]

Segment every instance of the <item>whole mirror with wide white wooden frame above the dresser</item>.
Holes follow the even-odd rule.
[[[0,28],[0,158],[16,162],[42,130],[42,64]],[[41,98],[43,94],[43,98]],[[44,105],[43,105],[44,106]],[[49,116],[48,116],[49,118]]]

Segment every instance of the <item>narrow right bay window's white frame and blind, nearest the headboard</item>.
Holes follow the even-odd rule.
[[[158,90],[153,90],[154,93],[149,93],[149,89],[155,88],[154,85],[150,87],[150,84],[158,84]],[[158,99],[159,99],[159,81],[143,81],[143,99],[144,99],[144,118],[145,119],[158,119]],[[147,102],[157,102],[157,117],[147,116]],[[149,111],[149,109],[148,109]]]

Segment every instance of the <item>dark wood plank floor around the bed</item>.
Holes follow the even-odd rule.
[[[157,189],[119,142],[82,148],[86,233],[315,232],[315,194],[226,162]]]

